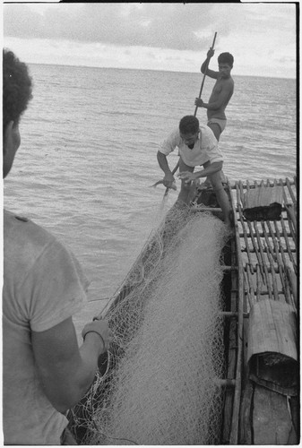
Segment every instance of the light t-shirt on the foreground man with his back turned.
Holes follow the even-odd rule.
[[[88,282],[55,237],[4,211],[4,444],[60,444],[67,419],[44,394],[30,332],[43,332],[78,312]]]

